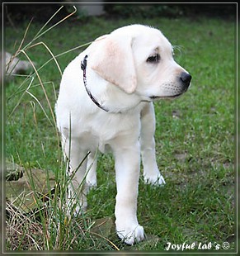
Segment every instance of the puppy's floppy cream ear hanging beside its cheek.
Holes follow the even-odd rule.
[[[134,92],[137,86],[131,43],[131,37],[110,34],[96,40],[90,54],[91,68],[127,93]]]

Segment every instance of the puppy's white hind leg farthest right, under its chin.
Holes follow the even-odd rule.
[[[141,111],[141,154],[144,165],[144,181],[153,185],[165,184],[158,170],[155,152],[155,113],[153,103],[146,104]]]

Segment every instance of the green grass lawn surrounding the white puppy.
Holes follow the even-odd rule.
[[[167,184],[152,187],[144,185],[143,178],[140,178],[138,216],[145,233],[158,236],[158,242],[128,247],[116,239],[114,232],[108,238],[110,242],[89,231],[97,219],[107,216],[114,220],[115,173],[114,161],[109,154],[100,155],[98,187],[88,195],[85,216],[66,220],[64,211],[59,210],[58,202],[53,200],[47,210],[51,213],[51,224],[41,223],[45,217],[40,216],[43,228],[35,231],[35,243],[39,247],[24,244],[25,239],[13,247],[9,237],[7,249],[114,250],[117,246],[127,250],[162,251],[167,242],[223,244],[235,233],[233,21],[205,18],[198,21],[187,18],[107,21],[92,18],[86,24],[79,21],[62,23],[35,43],[43,41],[54,55],[59,55],[119,26],[133,23],[162,30],[172,45],[180,46],[181,52],[176,50],[176,60],[192,74],[191,88],[184,96],[174,101],[155,102],[158,167]],[[17,31],[11,26],[6,27],[7,51],[16,52],[26,26],[26,23],[20,24]],[[31,24],[26,42],[41,26]],[[73,50],[57,58],[62,71],[80,52],[81,49]],[[26,53],[38,68],[51,58],[43,45],[27,49]],[[22,54],[18,57],[25,59]],[[35,75],[28,89],[31,94],[26,93],[30,81],[23,82],[25,78],[16,77],[6,85],[6,157],[25,168],[54,172],[62,181],[65,165],[46,100],[48,97],[53,109],[61,76],[54,60],[40,69],[39,74],[46,94]],[[61,192],[64,192],[64,187]],[[64,195],[61,198],[64,200]],[[43,207],[40,201],[37,205]],[[27,225],[25,230],[26,233],[29,230]],[[236,249],[232,240],[230,246]]]

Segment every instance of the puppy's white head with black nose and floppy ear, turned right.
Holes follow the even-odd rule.
[[[154,100],[180,96],[190,86],[191,74],[176,64],[172,45],[157,29],[125,26],[93,44],[92,69],[126,93]]]

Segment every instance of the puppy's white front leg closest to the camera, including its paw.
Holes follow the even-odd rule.
[[[126,244],[144,239],[144,228],[137,220],[139,159],[139,143],[130,148],[115,149],[115,225],[117,235]]]

